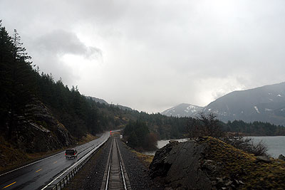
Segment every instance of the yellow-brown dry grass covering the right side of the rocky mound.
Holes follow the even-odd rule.
[[[218,139],[207,137],[206,159],[220,166],[218,175],[242,180],[242,189],[285,189],[285,162],[272,159],[271,163],[257,162],[257,157],[236,149]]]

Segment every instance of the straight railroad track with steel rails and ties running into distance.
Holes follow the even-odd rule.
[[[130,190],[130,181],[125,170],[116,138],[112,139],[108,162],[105,167],[101,190]]]

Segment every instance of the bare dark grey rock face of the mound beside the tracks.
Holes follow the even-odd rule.
[[[167,144],[156,152],[150,176],[165,177],[173,189],[211,189],[211,181],[201,169],[203,152],[204,144],[192,141]]]

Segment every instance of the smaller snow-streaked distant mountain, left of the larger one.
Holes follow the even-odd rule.
[[[176,117],[193,117],[197,112],[201,111],[202,109],[203,107],[199,107],[197,105],[180,104],[161,112],[161,114]]]

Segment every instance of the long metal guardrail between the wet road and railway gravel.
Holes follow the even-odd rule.
[[[105,140],[105,142],[107,142],[108,139]],[[67,186],[67,184],[71,181],[71,179],[73,179],[74,176],[76,176],[76,174],[83,168],[84,164],[86,164],[88,160],[93,156],[93,154],[97,152],[96,150],[98,150],[101,146],[103,146],[105,142],[100,144],[97,147],[97,149],[95,149],[88,157],[86,157],[86,159],[83,159],[83,161],[80,164],[78,164],[74,169],[72,169],[68,174],[66,174],[66,176],[64,176],[63,179],[61,179],[61,181],[58,181],[58,183],[53,186],[52,190],[60,190],[63,189],[65,186]]]

